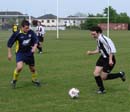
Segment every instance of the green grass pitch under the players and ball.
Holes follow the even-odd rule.
[[[107,93],[98,95],[93,69],[98,55],[88,56],[96,48],[88,31],[55,31],[46,33],[44,53],[35,54],[41,87],[34,87],[25,65],[17,88],[10,87],[15,68],[7,60],[7,39],[10,32],[0,31],[0,112],[129,112],[130,98],[130,32],[110,31],[117,48],[117,64],[113,72],[124,70],[127,80],[105,81]],[[78,99],[70,99],[68,91],[80,90]]]

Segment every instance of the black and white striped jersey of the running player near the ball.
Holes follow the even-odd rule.
[[[104,58],[108,58],[110,53],[116,53],[113,41],[103,34],[100,34],[97,39],[97,49]]]

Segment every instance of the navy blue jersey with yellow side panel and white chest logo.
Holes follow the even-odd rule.
[[[16,42],[16,53],[29,53],[32,46],[38,43],[36,34],[29,30],[28,33],[23,33],[21,30],[13,33],[8,40],[7,46],[11,48]]]

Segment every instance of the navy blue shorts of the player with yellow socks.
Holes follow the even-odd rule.
[[[24,62],[27,65],[34,66],[35,61],[34,61],[34,55],[33,53],[16,53],[16,62]]]

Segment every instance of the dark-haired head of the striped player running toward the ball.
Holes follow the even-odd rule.
[[[94,26],[90,29],[93,38],[97,38],[102,33],[102,29],[99,26]]]

